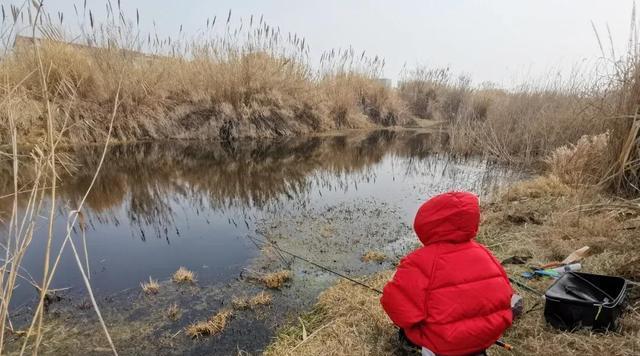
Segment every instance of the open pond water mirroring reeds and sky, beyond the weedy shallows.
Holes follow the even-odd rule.
[[[93,285],[103,292],[134,287],[180,265],[195,269],[201,281],[225,280],[255,253],[243,236],[273,214],[377,199],[398,206],[408,222],[430,194],[448,189],[486,194],[511,179],[508,169],[439,153],[445,139],[439,133],[381,130],[279,141],[113,146],[85,205]],[[84,147],[73,156],[77,168],[59,190],[58,245],[65,214],[91,183],[100,149]],[[44,237],[42,231],[36,234],[24,261],[36,278]],[[78,277],[66,256],[57,285],[79,286]]]

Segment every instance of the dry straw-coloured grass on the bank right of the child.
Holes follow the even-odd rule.
[[[635,243],[635,230],[628,229],[638,221],[637,203],[598,193],[593,187],[562,187],[557,178],[535,181],[519,184],[508,198],[486,206],[480,232],[483,243],[494,246],[499,258],[530,255],[532,263],[562,260],[572,251],[590,246],[590,255],[583,261],[585,271],[638,279],[640,246]],[[534,193],[536,187],[539,189]],[[509,218],[514,215],[535,216],[538,223],[514,223]],[[506,268],[516,276],[526,269]],[[540,280],[531,286],[544,290],[550,283]],[[532,307],[536,298],[521,293],[527,308]],[[631,307],[636,309],[640,306],[637,296],[638,291],[632,292]],[[522,354],[633,355],[640,349],[639,316],[627,312],[621,333],[564,333],[545,325],[542,310],[536,310],[518,320],[505,337]]]

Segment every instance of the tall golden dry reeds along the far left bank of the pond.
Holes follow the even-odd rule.
[[[262,20],[231,18],[207,24],[204,36],[160,38],[139,33],[119,9],[107,9],[105,21],[66,14],[65,21],[81,24],[80,36],[47,16],[37,31],[46,39],[37,43],[62,143],[104,140],[118,86],[123,100],[113,136],[121,141],[274,137],[393,125],[404,114],[396,93],[375,80],[384,66],[377,57],[333,50],[312,67],[304,38]],[[2,26],[14,26],[10,22]],[[20,16],[14,22],[23,25]],[[13,38],[2,40],[11,49]],[[29,75],[38,68],[32,52],[32,41],[23,39],[0,62],[0,87],[4,93],[16,87],[12,100],[23,108],[16,117],[23,143],[39,142],[47,132],[39,121],[42,85]],[[0,121],[0,142],[8,142],[8,132]]]

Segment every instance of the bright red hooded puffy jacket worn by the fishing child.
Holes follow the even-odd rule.
[[[400,261],[382,307],[409,340],[439,355],[491,346],[511,326],[512,289],[504,269],[474,241],[478,198],[452,192],[424,203],[413,228],[423,247]]]

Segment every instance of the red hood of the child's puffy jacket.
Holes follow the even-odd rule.
[[[467,192],[437,195],[422,204],[413,229],[424,245],[460,243],[476,237],[480,223],[478,197]]]

